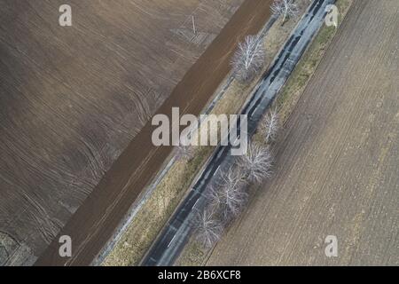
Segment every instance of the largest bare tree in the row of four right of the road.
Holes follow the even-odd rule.
[[[224,221],[237,217],[246,204],[248,194],[245,177],[241,168],[231,166],[221,172],[210,189],[208,198],[220,209]]]

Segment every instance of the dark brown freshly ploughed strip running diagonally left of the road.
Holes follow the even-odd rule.
[[[145,2],[145,4],[147,4],[147,2]],[[176,5],[177,4],[170,4],[169,7],[168,4],[166,4],[166,6],[168,6],[169,9],[172,9],[172,11]],[[172,106],[179,106],[182,110],[182,114],[199,114],[201,109],[206,105],[208,99],[210,99],[210,97],[214,94],[214,91],[218,87],[219,83],[223,81],[225,75],[227,75],[227,73],[230,71],[229,63],[231,52],[234,51],[237,43],[239,43],[239,41],[241,41],[244,36],[246,36],[247,34],[256,33],[258,29],[264,25],[270,15],[269,6],[270,1],[264,0],[247,0],[244,4],[242,4],[239,7],[239,10],[233,15],[229,23],[223,28],[220,35],[217,36],[215,40],[211,43],[211,45],[207,48],[207,51],[205,51],[201,55],[200,59],[198,59],[195,64],[189,69],[189,71],[184,75],[184,78],[179,83],[177,83],[170,96],[168,96],[168,99],[165,100],[165,102],[160,106],[156,113],[170,114]],[[123,8],[124,6],[121,5],[122,11],[124,11]],[[168,14],[168,12],[164,12],[162,14]],[[82,18],[84,18],[83,16],[84,15],[82,15]],[[119,17],[118,19],[125,18]],[[85,40],[85,36],[87,35],[83,36],[82,41]],[[73,36],[71,36],[71,39],[72,37]],[[153,38],[153,36],[151,38]],[[104,42],[104,38],[98,38],[98,44],[104,44]],[[113,40],[109,42],[111,44],[113,43]],[[106,43],[108,43],[108,41],[106,41]],[[159,48],[159,46],[162,46],[158,43],[148,44],[156,46],[157,48]],[[115,48],[118,49],[117,47]],[[160,50],[164,51],[163,49]],[[181,48],[181,51],[185,51],[185,49]],[[79,52],[77,52],[77,54],[78,53]],[[162,53],[162,56],[167,56],[167,54]],[[138,59],[144,60],[142,67],[145,68],[152,66],[151,61],[141,59],[141,57],[138,57],[137,60]],[[113,66],[113,64],[119,66],[118,62],[114,62],[112,61],[112,59],[109,59],[109,62],[111,66]],[[125,59],[122,57],[119,64],[125,62],[129,62],[129,59]],[[53,60],[49,61],[49,64],[51,63],[53,63]],[[137,70],[141,69],[137,68],[136,71]],[[113,75],[113,72],[111,71],[109,73],[103,71],[104,68],[101,68],[101,70],[98,70],[98,73],[101,74],[101,78],[104,80],[107,78],[108,75]],[[90,72],[90,70],[88,72]],[[134,73],[134,71],[132,70],[131,73]],[[169,75],[169,73],[171,72],[168,72],[166,75]],[[90,82],[90,80],[84,80],[82,84],[86,82]],[[90,83],[90,85],[91,84],[93,83]],[[93,85],[97,86],[96,84]],[[115,88],[121,86],[120,82],[113,83],[112,85],[114,85]],[[107,93],[108,95],[114,95],[115,91]],[[108,105],[108,103],[106,101],[103,102],[102,99],[98,99],[98,101],[101,104]],[[124,106],[123,102],[121,103],[121,106]],[[99,113],[101,113],[100,108],[95,107],[95,109],[98,110]],[[124,113],[123,108],[120,108],[118,110],[120,110],[121,114]],[[86,114],[86,112],[82,114]],[[43,119],[42,116],[39,117],[40,119]],[[109,120],[106,120],[106,122],[113,121],[113,119],[113,116],[110,115]],[[137,120],[137,117],[132,120]],[[51,121],[50,117],[49,121]],[[87,115],[85,115],[82,120],[79,120],[78,124],[86,125],[86,130],[90,130],[93,125],[102,125],[102,122],[91,122],[90,119],[87,118]],[[115,124],[113,123],[111,123],[110,125],[115,126]],[[65,125],[63,124],[63,126]],[[58,128],[56,127],[56,130],[58,132],[62,132],[64,128],[58,126]],[[123,130],[118,130],[117,127],[109,127],[108,130],[111,131],[109,132],[109,134],[107,134],[111,141],[113,141],[113,138],[115,138],[113,136],[112,130],[123,132]],[[114,229],[117,225],[119,225],[121,218],[124,217],[124,215],[127,213],[132,203],[137,200],[137,196],[142,192],[143,188],[145,188],[145,185],[148,184],[148,182],[151,180],[157,170],[159,170],[160,165],[168,157],[168,154],[171,151],[170,147],[153,146],[151,141],[152,130],[153,127],[148,122],[145,123],[145,126],[140,130],[137,136],[130,141],[129,146],[126,147],[126,149],[119,156],[116,162],[112,164],[110,170],[108,170],[106,172],[106,175],[101,178],[101,181],[91,193],[90,190],[86,190],[84,194],[79,192],[79,190],[81,190],[81,185],[86,185],[88,186],[88,188],[90,188],[90,185],[92,184],[87,185],[87,182],[85,183],[83,179],[76,179],[75,184],[77,188],[77,193],[74,194],[81,193],[82,196],[79,201],[76,202],[75,208],[79,207],[81,202],[82,205],[74,212],[74,215],[69,219],[68,217],[70,216],[70,212],[64,213],[64,216],[62,216],[62,218],[57,218],[56,228],[51,231],[51,233],[49,234],[50,237],[48,238],[48,241],[50,241],[51,239],[53,241],[51,242],[51,245],[45,250],[43,255],[40,256],[36,264],[90,264],[93,258],[97,256],[99,250],[113,235]],[[64,131],[67,133],[67,128]],[[62,137],[61,134],[59,135]],[[65,135],[67,136],[67,134]],[[55,136],[58,137],[58,135]],[[98,143],[97,131],[91,130],[89,137],[90,141],[93,141],[93,143]],[[83,144],[86,142],[84,138],[79,139],[79,141],[81,141],[81,143]],[[90,158],[91,156],[94,156],[94,158],[90,160],[90,167],[94,169],[99,168],[98,159],[96,159],[96,153],[97,152],[89,151],[86,155],[82,157],[82,159],[84,160],[88,159],[88,157]],[[103,151],[98,150],[98,153],[103,153]],[[71,167],[74,166],[75,161],[72,154],[63,154],[63,157],[64,159],[66,159],[66,161],[71,163]],[[48,172],[47,168],[45,167],[42,167],[42,170],[43,172]],[[102,172],[100,174],[98,171],[96,171],[96,173],[98,177],[100,177],[102,174]],[[82,175],[84,176],[84,174]],[[63,177],[57,177],[56,180],[66,182],[66,184],[70,185],[70,182],[65,181],[65,178]],[[39,183],[37,184],[40,185]],[[68,193],[63,193],[62,191],[60,191],[64,195],[57,196],[59,194],[59,191],[53,190],[54,188],[58,188],[57,185],[52,184],[51,186],[49,186],[49,188],[52,189],[51,193],[56,195],[56,198],[53,198],[53,196],[49,194],[48,191],[44,192],[43,194],[43,189],[38,189],[38,193],[40,194],[40,196],[44,196],[46,199],[46,202],[43,202],[44,204],[47,204],[47,202],[50,202],[52,204],[54,204],[54,202],[63,202],[67,200],[67,198],[71,197],[70,195],[72,190],[69,190]],[[87,198],[85,198],[87,194],[88,196]],[[29,193],[27,193],[27,196],[29,196]],[[45,209],[47,209],[47,207],[48,206],[46,205]],[[13,206],[11,208],[16,207]],[[43,205],[41,205],[39,208],[43,208]],[[59,206],[51,206],[50,208],[53,210],[58,210]],[[49,219],[52,220],[51,222],[55,222],[55,218],[53,218],[53,216],[57,216],[57,214],[53,212],[51,212],[51,214],[49,212],[45,213],[46,214],[43,214],[43,216],[36,218],[37,222]],[[49,218],[48,216],[51,217]],[[53,238],[53,236],[54,233],[58,231],[58,228],[62,227],[64,221],[67,219],[68,221],[66,225],[61,229],[59,235],[66,234],[72,237],[74,256],[71,258],[60,258],[58,237]],[[24,225],[26,225],[26,222],[20,222],[20,227],[23,227]],[[20,233],[21,238],[23,237],[23,235],[28,235],[28,233]],[[40,252],[40,250],[41,249],[38,248],[36,251]],[[38,255],[38,253],[36,253],[36,255]]]

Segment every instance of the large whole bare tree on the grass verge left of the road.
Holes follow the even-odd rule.
[[[239,43],[239,48],[231,59],[234,75],[239,82],[248,83],[262,70],[265,59],[262,43],[259,36],[246,36],[244,42]]]

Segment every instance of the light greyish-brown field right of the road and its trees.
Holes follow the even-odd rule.
[[[356,0],[208,265],[399,264],[399,2]],[[325,237],[338,256],[325,256]]]

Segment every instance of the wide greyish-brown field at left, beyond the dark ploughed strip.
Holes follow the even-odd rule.
[[[0,264],[43,253],[243,1],[71,0],[61,28],[63,1],[0,0]]]

